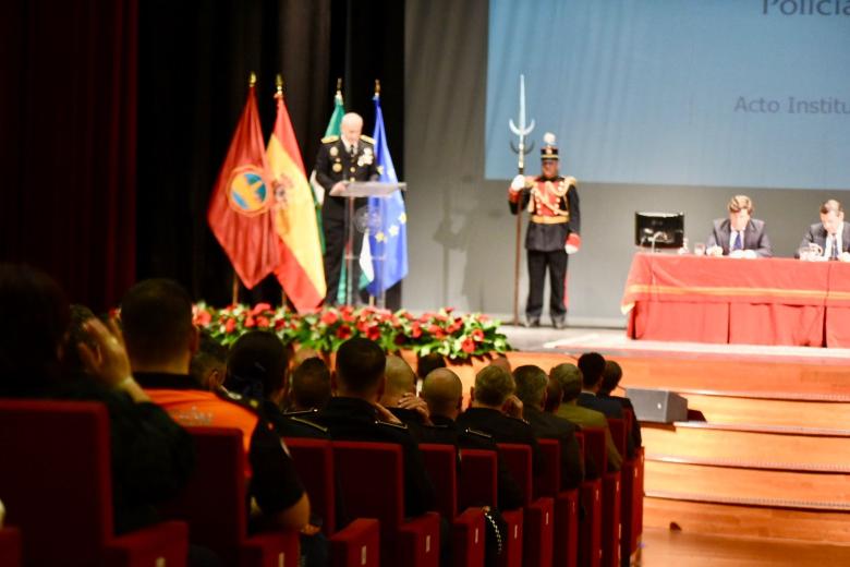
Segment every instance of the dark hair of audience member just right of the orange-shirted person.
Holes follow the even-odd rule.
[[[267,399],[287,384],[289,355],[274,333],[251,330],[230,348],[224,387],[248,398]]]

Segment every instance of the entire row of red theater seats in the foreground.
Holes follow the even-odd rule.
[[[611,420],[619,448],[629,421]],[[299,534],[248,535],[242,437],[235,430],[193,427],[197,467],[187,490],[163,508],[170,518],[116,536],[109,473],[109,427],[97,403],[0,400],[0,500],[8,527],[0,530],[0,565],[185,565],[189,534],[228,565],[298,565]],[[603,430],[580,434],[587,458],[605,462]],[[451,563],[482,566],[489,521],[482,502],[496,502],[497,462],[491,451],[421,445],[438,494],[438,510],[404,517],[400,446],[288,438],[313,509],[324,518],[335,566],[436,567],[440,516],[450,526]],[[500,445],[524,505],[502,510],[505,566],[617,567],[636,548],[642,516],[642,455],[621,472],[560,491],[560,446],[541,439],[545,475],[532,476],[531,450]],[[599,465],[600,463],[600,465]],[[339,491],[339,492],[338,492]],[[340,526],[337,504],[349,517]],[[580,506],[585,518],[579,521]],[[621,531],[622,530],[622,531]]]

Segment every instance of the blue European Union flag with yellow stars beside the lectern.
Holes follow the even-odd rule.
[[[375,93],[375,157],[380,181],[397,183],[396,168],[387,147],[380,97]],[[387,197],[369,197],[369,248],[375,278],[368,285],[372,295],[379,295],[408,275],[408,215],[404,200],[396,191]]]

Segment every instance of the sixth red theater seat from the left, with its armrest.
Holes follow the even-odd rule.
[[[498,502],[498,461],[496,451],[461,449],[458,503],[461,508],[494,506]],[[522,566],[523,509],[499,510],[506,523],[502,533],[500,567]]]

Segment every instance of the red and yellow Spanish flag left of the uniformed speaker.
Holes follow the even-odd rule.
[[[281,240],[275,274],[299,312],[314,311],[325,298],[326,287],[313,192],[304,173],[280,81],[275,98],[278,117],[266,152],[277,200],[275,229]]]

